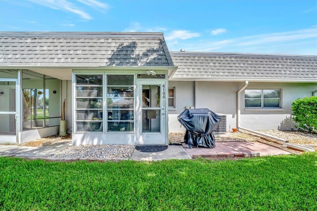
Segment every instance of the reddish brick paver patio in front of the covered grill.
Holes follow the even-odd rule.
[[[229,157],[253,157],[268,155],[287,155],[290,154],[284,150],[271,147],[259,142],[216,142],[213,149],[203,147],[193,147],[189,149],[187,144],[183,144],[184,149],[192,158],[197,157],[213,157],[213,156],[229,156]]]

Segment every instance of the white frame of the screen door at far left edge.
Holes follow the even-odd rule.
[[[0,78],[0,82],[15,82],[15,111],[0,111],[0,116],[2,114],[15,114],[15,135],[0,135],[0,143],[17,143],[18,133],[20,131],[20,118],[19,118],[20,86],[18,83],[18,79],[16,78]]]

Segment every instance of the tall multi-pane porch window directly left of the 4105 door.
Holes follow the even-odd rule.
[[[134,76],[107,75],[107,132],[134,131]]]

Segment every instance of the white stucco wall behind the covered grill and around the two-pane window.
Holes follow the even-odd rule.
[[[209,108],[227,116],[227,131],[236,127],[236,95],[243,82],[179,82],[170,81],[176,89],[176,109],[169,110],[169,132],[182,132],[177,115],[185,106]],[[291,103],[297,98],[312,96],[317,83],[259,83],[250,82],[247,89],[281,89],[280,110],[248,110],[244,108],[244,92],[241,93],[241,126],[253,130],[294,128],[290,120]]]

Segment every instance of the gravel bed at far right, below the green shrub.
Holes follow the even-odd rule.
[[[261,133],[269,134],[288,140],[290,143],[317,146],[317,134],[301,131],[281,131],[281,130],[258,130]]]

